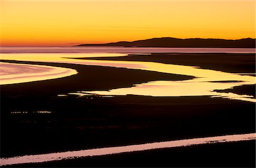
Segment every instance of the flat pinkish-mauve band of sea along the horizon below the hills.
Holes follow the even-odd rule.
[[[0,53],[255,53],[255,48],[0,47]]]

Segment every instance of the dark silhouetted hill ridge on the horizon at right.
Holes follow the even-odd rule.
[[[162,37],[137,41],[119,41],[117,43],[106,44],[80,44],[76,47],[208,47],[208,48],[255,48],[255,39],[247,38],[240,40],[225,39],[176,39],[172,37]]]

